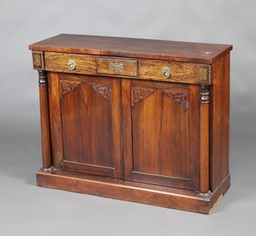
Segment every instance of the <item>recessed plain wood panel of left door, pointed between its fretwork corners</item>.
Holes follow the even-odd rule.
[[[62,98],[64,160],[113,167],[111,110],[112,104],[87,82]]]

